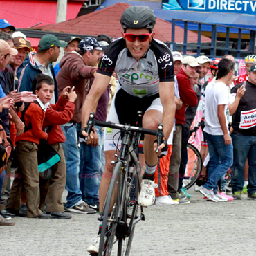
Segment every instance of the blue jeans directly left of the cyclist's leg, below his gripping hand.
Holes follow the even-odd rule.
[[[102,167],[102,127],[95,126],[99,136],[98,146],[80,144],[80,190],[82,199],[89,205],[99,201],[100,170]]]

